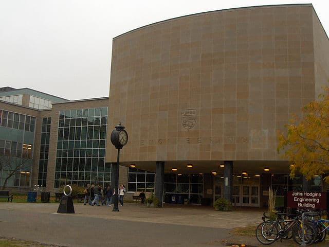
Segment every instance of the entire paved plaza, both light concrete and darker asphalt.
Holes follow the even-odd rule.
[[[253,237],[233,236],[235,227],[255,225],[264,209],[228,212],[211,207],[136,203],[113,207],[75,203],[75,214],[58,214],[57,203],[0,203],[0,237],[59,246],[262,246]],[[294,246],[292,241],[271,246]],[[324,246],[324,245],[323,245]]]

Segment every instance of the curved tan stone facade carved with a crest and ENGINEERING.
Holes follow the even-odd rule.
[[[280,161],[277,131],[327,84],[325,72],[315,78],[315,22],[312,5],[261,6],[116,37],[107,133],[119,122],[129,133],[120,160]]]

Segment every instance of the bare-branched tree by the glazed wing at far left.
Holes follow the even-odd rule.
[[[15,174],[20,172],[28,172],[32,166],[30,158],[13,157],[13,156],[0,156],[0,171],[4,179],[2,190],[7,186],[8,180]]]

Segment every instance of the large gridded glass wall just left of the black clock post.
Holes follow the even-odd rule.
[[[107,107],[61,111],[54,187],[111,183],[105,166]]]

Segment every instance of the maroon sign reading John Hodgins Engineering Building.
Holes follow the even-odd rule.
[[[287,207],[291,208],[327,208],[326,192],[288,191]]]

